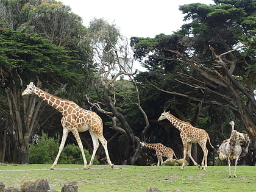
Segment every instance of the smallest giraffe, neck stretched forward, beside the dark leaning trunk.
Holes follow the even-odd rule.
[[[173,155],[177,159],[174,151],[171,148],[164,146],[162,143],[145,143],[140,142],[141,146],[144,146],[149,149],[154,149],[155,154],[157,155],[157,166],[163,164],[163,157],[167,157],[169,159],[173,158]],[[161,162],[161,163],[160,163]]]

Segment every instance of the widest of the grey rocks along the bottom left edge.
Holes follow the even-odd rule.
[[[45,179],[24,180],[21,182],[21,192],[47,192],[48,190],[50,190],[50,187]]]

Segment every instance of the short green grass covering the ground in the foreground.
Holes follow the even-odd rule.
[[[51,190],[60,191],[64,183],[78,182],[84,191],[146,191],[148,187],[160,191],[181,189],[188,191],[255,191],[256,166],[238,166],[237,178],[228,178],[228,166],[208,166],[202,171],[196,166],[121,166],[108,165],[0,165],[0,182],[5,186],[20,188],[23,180],[48,180]],[[232,174],[233,174],[232,166]]]

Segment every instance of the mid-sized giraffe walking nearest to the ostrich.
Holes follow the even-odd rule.
[[[182,144],[183,144],[183,163],[182,163],[181,169],[183,170],[185,166],[185,159],[187,155],[188,157],[191,158],[194,165],[200,168],[200,165],[196,163],[196,161],[191,155],[192,143],[198,143],[199,146],[201,146],[202,151],[204,152],[204,157],[202,158],[201,166],[202,166],[202,169],[205,171],[205,168],[207,168],[207,155],[208,155],[208,149],[206,148],[207,140],[209,140],[209,143],[212,146],[208,133],[204,129],[193,127],[190,123],[181,121],[180,119],[176,118],[174,115],[171,115],[171,113],[169,112],[164,111],[162,115],[158,118],[158,121],[161,121],[163,119],[168,119],[169,122],[180,131],[180,138],[182,139]]]

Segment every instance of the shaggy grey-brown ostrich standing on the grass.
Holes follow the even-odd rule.
[[[232,126],[232,132],[230,135],[230,138],[227,140],[224,140],[221,143],[221,146],[219,146],[218,154],[219,158],[221,160],[224,160],[227,158],[227,162],[229,163],[229,177],[231,177],[231,171],[230,171],[230,160],[235,160],[235,171],[234,171],[234,177],[237,177],[236,172],[236,165],[238,162],[238,159],[240,157],[243,157],[248,152],[248,146],[250,144],[250,138],[247,134],[237,132],[235,130],[235,123],[231,121],[229,123]]]

